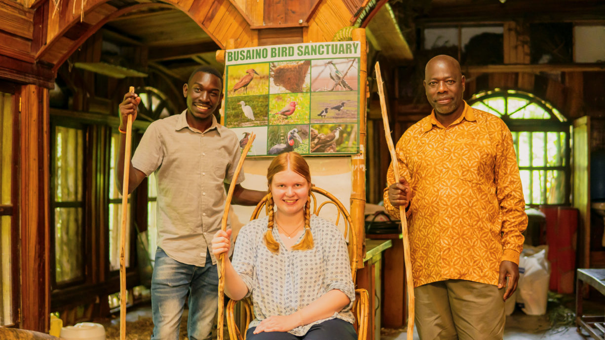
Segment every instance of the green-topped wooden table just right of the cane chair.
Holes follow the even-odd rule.
[[[382,297],[382,252],[391,248],[391,240],[365,240],[364,268],[357,272],[357,286],[370,295],[367,340],[380,339]]]

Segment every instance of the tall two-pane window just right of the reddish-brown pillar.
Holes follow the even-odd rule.
[[[84,127],[53,127],[51,210],[54,215],[54,279],[57,284],[84,277]]]

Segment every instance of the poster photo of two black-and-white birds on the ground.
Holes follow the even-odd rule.
[[[359,94],[357,91],[313,92],[311,94],[311,124],[357,123]]]

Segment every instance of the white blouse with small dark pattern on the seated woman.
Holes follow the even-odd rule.
[[[264,243],[269,217],[252,220],[241,228],[235,243],[232,264],[240,275],[248,293],[252,293],[255,319],[249,327],[256,327],[273,315],[290,315],[317,300],[332,289],[341,290],[351,300],[341,312],[302,327],[290,330],[302,336],[319,322],[339,318],[353,324],[350,311],[355,300],[355,286],[351,278],[347,245],[342,232],[332,222],[311,216],[312,249],[286,249],[277,228],[273,238],[280,243],[280,251],[273,254]],[[301,233],[295,244],[298,244]]]

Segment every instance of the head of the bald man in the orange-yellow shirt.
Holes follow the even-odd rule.
[[[456,59],[448,56],[431,59],[425,69],[424,88],[437,115],[454,115],[457,118],[462,114],[465,77]]]

